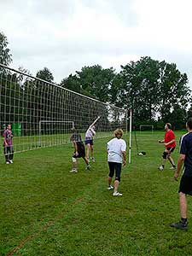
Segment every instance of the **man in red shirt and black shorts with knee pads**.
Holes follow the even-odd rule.
[[[165,166],[165,163],[166,163],[166,158],[172,164],[171,169],[172,170],[176,169],[176,166],[175,166],[174,161],[173,161],[172,156],[171,156],[171,153],[176,148],[175,134],[172,131],[172,125],[170,123],[166,123],[165,130],[166,130],[166,133],[165,133],[164,140],[159,141],[159,143],[164,143],[165,147],[166,147],[166,149],[164,150],[163,155],[162,155],[162,157],[163,157],[162,165],[158,168],[160,171],[164,170],[164,166]]]

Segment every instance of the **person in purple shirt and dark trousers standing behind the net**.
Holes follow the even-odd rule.
[[[6,126],[6,130],[3,132],[3,150],[6,164],[13,164],[14,159],[14,147],[12,143],[12,131],[11,125]]]

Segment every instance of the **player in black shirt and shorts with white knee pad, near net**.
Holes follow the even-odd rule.
[[[73,148],[74,148],[74,153],[73,153],[73,169],[70,172],[78,172],[77,169],[77,158],[83,158],[83,160],[85,161],[87,167],[86,169],[90,170],[90,165],[89,165],[89,161],[87,160],[86,156],[85,156],[85,148],[84,148],[84,143],[82,141],[82,137],[81,135],[78,133],[78,131],[76,131],[75,129],[73,129],[73,135],[71,137],[71,141],[73,142]]]

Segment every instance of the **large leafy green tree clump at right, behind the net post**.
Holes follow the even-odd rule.
[[[153,122],[157,113],[167,122],[171,114],[176,113],[175,106],[181,111],[187,107],[190,96],[188,78],[186,73],[178,71],[176,64],[143,57],[121,68],[120,82],[116,83],[115,89],[118,92],[116,99],[133,109],[137,124]],[[113,101],[115,103],[115,96]]]

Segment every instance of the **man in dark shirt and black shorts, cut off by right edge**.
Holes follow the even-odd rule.
[[[186,128],[188,133],[183,135],[181,139],[177,171],[174,174],[174,178],[177,180],[184,163],[183,176],[178,189],[181,220],[178,223],[171,224],[172,228],[179,230],[188,230],[186,195],[192,195],[192,118],[187,121]]]

